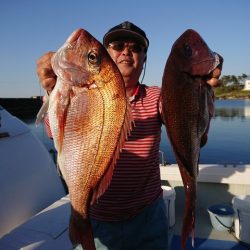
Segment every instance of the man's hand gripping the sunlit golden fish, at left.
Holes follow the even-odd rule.
[[[47,52],[36,62],[36,70],[42,87],[51,92],[56,84],[56,75],[52,69],[51,58],[55,52]]]

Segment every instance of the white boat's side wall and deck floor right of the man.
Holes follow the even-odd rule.
[[[250,245],[240,242],[234,234],[234,227],[219,231],[210,221],[207,208],[215,204],[232,205],[232,198],[239,194],[250,194],[249,166],[201,166],[197,182],[195,241],[192,248],[191,237],[187,250],[247,250]],[[172,229],[171,250],[180,249],[180,235],[185,205],[185,195],[178,166],[162,166],[163,185],[171,186],[176,192],[175,226]]]

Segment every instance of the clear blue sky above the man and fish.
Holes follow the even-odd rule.
[[[1,0],[0,98],[43,95],[36,61],[77,28],[97,40],[130,21],[150,41],[143,83],[161,85],[175,40],[195,29],[224,57],[222,75],[250,75],[249,0]]]

